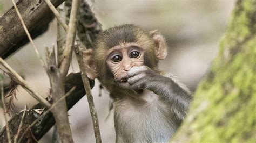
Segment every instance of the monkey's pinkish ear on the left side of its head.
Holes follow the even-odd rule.
[[[83,52],[83,63],[85,65],[87,77],[94,80],[98,77],[95,61],[93,60],[92,49],[86,49]]]

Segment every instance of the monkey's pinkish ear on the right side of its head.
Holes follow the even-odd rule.
[[[156,44],[155,51],[156,56],[159,60],[163,60],[167,56],[167,46],[163,35],[160,34],[158,30],[150,31],[150,37]]]

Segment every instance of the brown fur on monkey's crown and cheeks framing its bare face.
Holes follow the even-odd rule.
[[[122,42],[136,42],[143,45],[146,49],[146,65],[150,68],[157,67],[158,60],[154,51],[155,43],[149,36],[149,33],[144,31],[141,27],[125,24],[110,28],[101,33],[96,42],[95,49],[93,50],[94,61],[96,68],[99,72],[98,79],[111,91],[112,85],[116,84],[110,76],[108,67],[105,65],[108,49],[119,45]]]

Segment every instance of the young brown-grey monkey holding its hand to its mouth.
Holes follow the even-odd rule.
[[[87,76],[113,98],[116,142],[169,141],[187,115],[190,91],[157,69],[166,55],[157,30],[132,24],[105,30],[84,52]]]

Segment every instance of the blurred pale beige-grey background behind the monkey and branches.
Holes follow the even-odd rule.
[[[225,32],[228,18],[234,7],[234,0],[93,0],[92,10],[96,13],[102,27],[106,28],[133,23],[146,30],[158,29],[166,38],[169,55],[159,63],[159,69],[178,76],[179,80],[194,91],[201,78],[207,73],[212,60],[218,53],[219,42]],[[12,6],[9,0],[0,0],[0,13]],[[39,52],[44,57],[44,45],[56,45],[56,20],[49,30],[35,39]],[[27,44],[6,60],[12,68],[21,73],[25,80],[39,94],[46,95],[50,85],[49,78],[40,64],[35,51]],[[78,72],[73,58],[70,72]],[[109,96],[106,90],[99,97],[99,83],[92,89],[99,127],[103,142],[114,142],[113,113],[109,114]],[[18,87],[16,109],[12,115],[28,104],[31,108],[36,101]],[[69,119],[75,142],[95,142],[92,120],[86,97],[82,98],[70,111]],[[0,130],[5,125],[3,111],[0,109]],[[49,142],[51,132],[40,142]]]

